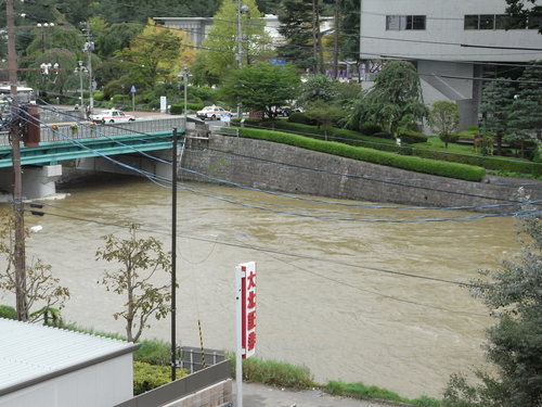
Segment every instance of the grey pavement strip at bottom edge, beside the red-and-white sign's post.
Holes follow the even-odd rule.
[[[233,382],[233,399],[236,400],[236,385]],[[243,407],[385,407],[391,403],[358,400],[335,397],[320,390],[281,390],[258,383],[243,383]]]

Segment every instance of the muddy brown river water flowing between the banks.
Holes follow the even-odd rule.
[[[402,222],[397,220],[404,216],[473,214],[186,187],[193,191],[178,195],[181,345],[198,346],[201,320],[204,346],[234,349],[234,267],[255,260],[261,358],[307,366],[319,382],[363,381],[411,397],[439,396],[450,373],[483,363],[487,309],[466,289],[441,280],[467,282],[477,269],[498,267],[517,250],[513,219]],[[96,283],[104,268],[115,267],[98,263],[95,251],[102,236],[126,236],[116,225],[128,222],[141,224],[142,236],[170,250],[170,190],[107,178],[65,192],[63,200],[44,202],[48,215],[26,218],[28,227],[43,227],[28,240],[28,259],[51,264],[69,288],[67,321],[121,333],[122,322],[112,315],[122,298]],[[11,301],[0,295],[1,303]],[[145,338],[169,340],[169,319],[151,325]]]

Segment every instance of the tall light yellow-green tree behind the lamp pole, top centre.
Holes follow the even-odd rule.
[[[244,0],[248,8],[242,13],[242,65],[271,56],[271,38],[260,20],[255,0]],[[220,78],[227,71],[237,65],[237,2],[224,0],[214,16],[212,26],[202,43],[197,65],[201,76]],[[202,69],[202,66],[205,69]]]

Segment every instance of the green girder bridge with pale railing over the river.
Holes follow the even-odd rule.
[[[41,127],[39,147],[21,147],[22,165],[54,165],[62,161],[168,150],[173,128],[184,133],[184,119],[166,118],[118,125],[65,124]],[[179,143],[181,145],[181,143]],[[12,166],[8,132],[0,132],[0,168]]]

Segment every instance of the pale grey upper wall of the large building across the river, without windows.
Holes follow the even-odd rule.
[[[500,0],[361,0],[361,53],[443,61],[530,61],[542,52],[461,44],[540,49],[535,29],[464,29],[465,14],[504,14]],[[386,30],[386,15],[426,15],[425,30]],[[422,42],[418,42],[422,41]]]

